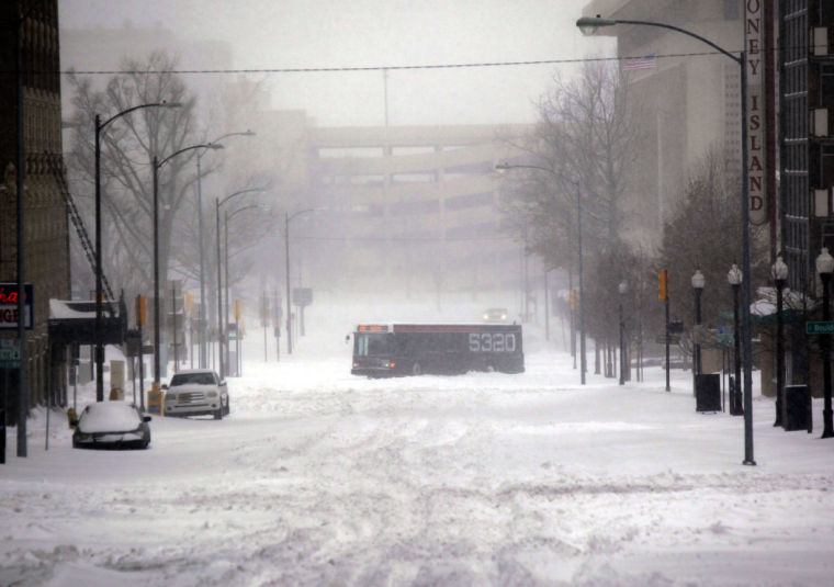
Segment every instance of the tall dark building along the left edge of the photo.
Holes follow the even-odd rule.
[[[63,176],[57,0],[0,4],[0,282],[18,281],[18,106],[15,39],[22,44],[24,279],[33,284],[34,324],[26,334],[29,406],[44,403],[47,379],[63,382],[63,358],[47,355],[49,300],[69,297],[69,238]],[[0,338],[16,338],[16,328]],[[47,370],[52,365],[52,377]],[[2,370],[9,421],[16,421],[18,370]],[[55,390],[56,386],[53,386]]]

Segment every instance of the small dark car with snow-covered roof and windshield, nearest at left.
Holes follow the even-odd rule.
[[[126,402],[97,402],[72,424],[74,449],[147,449],[150,416]]]

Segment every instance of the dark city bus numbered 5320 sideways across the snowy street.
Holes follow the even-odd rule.
[[[369,377],[522,373],[521,326],[510,324],[360,324],[351,374]]]

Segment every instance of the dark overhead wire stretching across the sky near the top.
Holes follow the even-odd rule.
[[[741,52],[736,52],[741,53]],[[656,59],[670,59],[678,57],[708,57],[721,55],[719,52],[698,52],[698,53],[669,53],[665,55],[655,55]],[[630,57],[583,57],[578,59],[536,59],[529,61],[481,61],[465,64],[424,64],[424,65],[373,65],[358,67],[275,67],[261,69],[162,69],[162,70],[131,70],[131,69],[90,69],[90,70],[65,70],[59,75],[77,76],[114,76],[114,75],[194,75],[194,74],[333,74],[333,72],[352,72],[352,71],[407,71],[415,69],[474,69],[485,67],[519,67],[537,65],[570,65],[595,61],[627,61],[645,57],[645,55]],[[36,74],[47,74],[47,71],[36,71]]]

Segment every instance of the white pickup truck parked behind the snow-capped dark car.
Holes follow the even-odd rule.
[[[166,416],[214,416],[223,419],[229,414],[226,382],[211,369],[188,369],[164,385]]]

